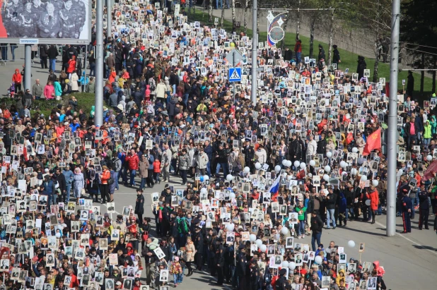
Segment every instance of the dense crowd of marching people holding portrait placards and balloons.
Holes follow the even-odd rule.
[[[81,85],[94,92],[93,49],[89,79],[78,78],[74,46],[59,75],[55,47],[39,47],[47,85],[23,91],[25,68],[13,74],[16,104],[0,108],[0,289],[168,289],[203,270],[233,289],[387,289],[379,261],[347,256],[364,243],[321,241],[386,210],[388,97],[363,57],[352,72],[337,46],[328,66],[322,45],[310,59],[300,40],[284,51],[260,43],[264,71],[252,80],[243,33],[190,23],[179,4],[120,0],[112,16],[103,123],[74,97]],[[228,82],[232,49],[243,55],[238,83]],[[429,229],[437,206],[437,98],[422,107],[412,94],[398,95],[405,234],[415,213]],[[33,114],[39,98],[59,105]],[[135,205],[112,219],[115,191],[126,187]]]

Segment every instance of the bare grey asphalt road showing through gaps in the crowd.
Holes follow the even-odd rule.
[[[171,176],[175,189],[183,189],[179,177]],[[137,184],[139,184],[139,179]],[[190,181],[190,179],[189,179]],[[151,217],[154,225],[154,216],[151,210],[151,193],[161,194],[164,182],[156,184],[153,188],[144,191],[144,217]],[[120,187],[115,192],[115,209],[122,212],[124,206],[135,204],[136,188]],[[418,216],[412,220],[412,233],[399,234],[402,231],[402,218],[397,217],[397,234],[388,238],[385,236],[385,215],[376,217],[376,223],[348,222],[347,227],[337,229],[324,229],[322,243],[329,246],[330,241],[335,241],[339,246],[344,246],[347,260],[350,258],[361,259],[362,262],[380,261],[385,268],[384,281],[388,289],[434,289],[435,287],[435,262],[437,261],[437,236],[433,231],[433,217],[430,216],[429,230],[417,229]],[[347,246],[348,241],[355,241],[355,248]],[[311,243],[310,236],[298,240],[301,243]],[[359,253],[359,243],[365,243],[365,250]],[[408,277],[406,279],[406,277]],[[171,279],[170,279],[171,280]],[[170,282],[173,285],[173,281]],[[206,272],[194,272],[191,277],[184,277],[178,289],[194,289],[194,287],[207,286],[209,289],[228,289],[229,287],[215,286],[215,279]]]

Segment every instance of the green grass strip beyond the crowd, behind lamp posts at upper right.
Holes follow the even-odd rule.
[[[251,13],[251,11],[247,11],[247,14]],[[202,10],[196,10],[194,13],[194,16],[190,18],[190,20],[192,21],[200,21],[202,23],[204,23],[204,25],[208,25],[209,27],[214,27],[214,16],[213,16],[213,22],[210,23],[209,19],[208,19],[208,13],[204,12]],[[220,19],[219,19],[219,25],[217,25],[218,28],[220,28]],[[241,31],[244,31],[243,28],[243,23],[241,28],[237,28],[237,33],[239,34]],[[252,27],[252,23],[248,23],[248,27]],[[232,31],[232,22],[231,21],[227,21],[224,20],[223,21],[223,28],[226,29],[227,31]],[[252,30],[247,29],[247,35],[249,37],[252,37]],[[259,42],[262,41],[267,41],[267,32],[260,32],[259,35]],[[310,38],[309,37],[305,37],[303,35],[300,35],[300,38],[302,40],[302,59],[304,56],[308,56],[310,54]],[[294,44],[296,43],[296,33],[292,33],[292,32],[287,32],[286,33],[286,37],[284,39],[285,41],[285,46],[289,47],[290,49],[294,48]],[[325,54],[326,56],[328,55],[327,49],[328,49],[328,44],[325,42],[319,42],[317,40],[314,41],[314,56],[315,58],[317,58],[317,54],[318,54],[318,49],[317,46],[318,44],[322,44],[322,47],[325,49]],[[281,43],[279,42],[277,45],[279,46]],[[352,72],[356,72],[356,65],[357,65],[357,59],[358,59],[358,54],[354,54],[351,52],[348,52],[344,49],[341,49],[340,47],[339,49],[339,53],[340,56],[342,58],[342,63],[339,65],[339,68],[342,69],[343,71],[346,68],[349,68],[349,73]],[[381,59],[382,61],[382,59]],[[383,64],[382,62],[379,62],[378,65],[378,78],[385,78],[385,80],[387,82],[390,81],[390,64]],[[371,80],[373,80],[373,67],[375,66],[375,59],[368,59],[366,58],[366,64],[367,64],[367,68],[371,70]],[[407,75],[408,72],[407,71],[401,71],[399,73],[398,76],[398,81],[397,81],[397,85],[398,85],[398,89],[401,90],[402,89],[402,80],[405,80],[405,82],[407,82]],[[418,99],[422,99],[421,97],[419,97],[419,90],[420,90],[420,78],[421,75],[420,73],[413,73],[414,75],[414,98]],[[424,97],[429,97],[429,95],[431,95],[431,89],[432,89],[432,78],[426,78],[424,79]]]

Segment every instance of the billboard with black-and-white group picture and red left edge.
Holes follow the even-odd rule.
[[[88,44],[92,0],[1,1],[0,42],[38,39],[40,44]]]

